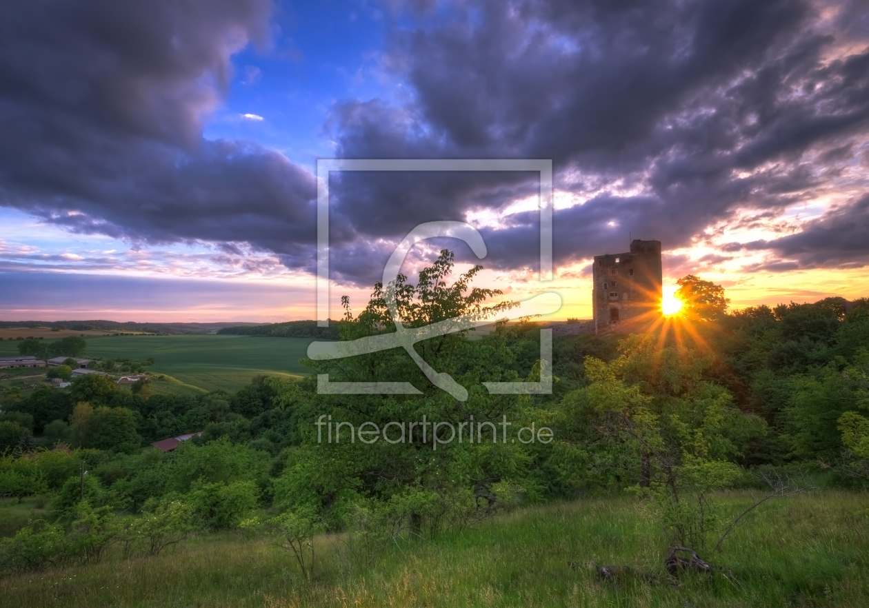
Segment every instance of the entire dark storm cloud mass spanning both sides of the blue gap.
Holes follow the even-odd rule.
[[[558,265],[624,251],[628,234],[678,248],[716,222],[772,221],[869,157],[865,3],[387,4],[381,67],[407,92],[336,103],[325,130],[338,155],[551,158],[556,188],[585,201],[554,213]],[[202,138],[229,57],[267,43],[271,10],[0,4],[0,204],[133,241],[214,241],[231,254],[248,242],[311,269],[313,177],[256,143]],[[503,210],[539,188],[524,173],[332,179],[332,269],[363,285],[416,224]],[[859,202],[748,248],[859,263],[867,230]],[[483,233],[488,267],[537,268],[536,213]]]

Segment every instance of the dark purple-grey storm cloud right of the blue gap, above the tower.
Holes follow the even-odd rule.
[[[827,9],[839,10],[833,21]],[[716,221],[739,223],[737,209],[777,213],[833,182],[866,141],[861,3],[527,0],[420,10],[411,11],[418,25],[391,31],[386,59],[413,85],[413,101],[339,104],[330,128],[342,155],[554,159],[556,188],[590,197],[555,212],[556,263],[624,251],[628,233],[677,248]],[[617,180],[638,194],[587,188]],[[355,175],[335,208],[354,226],[395,236],[501,207],[535,182],[462,175],[445,187],[435,175]],[[859,213],[843,208],[837,218]],[[536,268],[536,215],[510,220],[484,231],[487,265]],[[831,230],[812,235],[806,247],[827,253],[807,263],[865,256]]]

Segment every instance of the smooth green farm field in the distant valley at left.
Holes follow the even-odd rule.
[[[299,377],[307,368],[299,364],[311,340],[256,338],[240,335],[124,335],[88,340],[86,355],[109,359],[147,360],[151,373],[170,376],[155,383],[168,393],[196,393],[198,389],[236,391],[258,374]],[[0,355],[16,354],[17,342],[0,342]],[[36,370],[35,370],[36,371]]]

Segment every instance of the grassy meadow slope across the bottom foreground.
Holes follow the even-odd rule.
[[[730,576],[667,583],[666,540],[628,499],[583,499],[527,509],[477,530],[394,545],[374,566],[341,558],[321,537],[306,582],[295,560],[265,540],[206,535],[157,558],[3,578],[3,605],[41,606],[866,606],[869,520],[865,494],[824,491],[767,503],[720,553],[703,556]],[[744,492],[726,496],[735,512]],[[632,565],[658,581],[600,580],[584,565]],[[568,566],[575,562],[575,570]]]

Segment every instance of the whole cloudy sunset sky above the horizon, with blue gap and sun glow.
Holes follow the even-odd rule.
[[[47,0],[0,4],[0,321],[315,317],[316,161],[547,159],[333,173],[330,307],[362,309],[418,224],[478,284],[591,316],[631,238],[735,308],[869,295],[869,6],[829,0]]]

